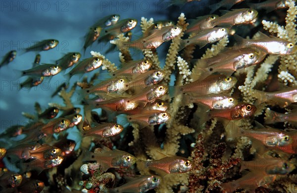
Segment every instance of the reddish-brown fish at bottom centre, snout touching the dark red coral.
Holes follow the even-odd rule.
[[[139,170],[149,169],[158,174],[180,174],[189,172],[194,167],[194,163],[191,160],[180,156],[165,156],[161,159],[152,161],[139,160],[136,164]]]

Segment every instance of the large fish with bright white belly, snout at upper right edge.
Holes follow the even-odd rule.
[[[277,55],[290,55],[297,52],[297,47],[293,42],[283,40],[281,38],[266,36],[265,34],[258,32],[260,39],[248,40],[234,34],[235,40],[238,42],[238,46],[235,48],[254,48],[255,50],[265,52],[266,54]]]

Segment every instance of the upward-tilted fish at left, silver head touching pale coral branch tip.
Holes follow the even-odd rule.
[[[102,63],[103,59],[101,57],[91,57],[81,61],[73,69],[71,69],[68,74],[69,76],[73,76],[74,74],[86,73],[99,68]]]

